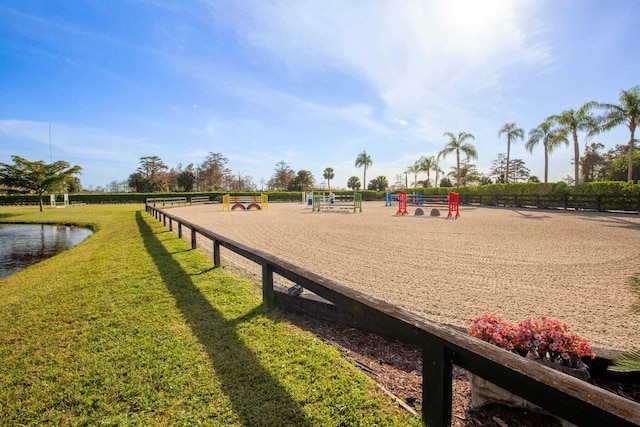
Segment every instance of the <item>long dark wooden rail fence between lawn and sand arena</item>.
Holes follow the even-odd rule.
[[[273,274],[293,281],[368,322],[384,325],[398,340],[422,348],[422,422],[451,425],[452,365],[482,378],[580,426],[640,426],[640,404],[527,360],[452,327],[423,319],[402,308],[340,285],[266,252],[235,242],[149,204],[147,212],[173,229],[178,224],[213,242],[213,263],[220,266],[220,246],[262,266],[262,298],[276,307]]]

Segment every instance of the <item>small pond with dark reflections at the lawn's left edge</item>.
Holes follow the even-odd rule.
[[[0,279],[50,258],[93,234],[84,227],[0,224]]]

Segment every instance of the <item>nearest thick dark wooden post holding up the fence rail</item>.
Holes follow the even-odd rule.
[[[451,350],[436,340],[422,344],[422,423],[451,425],[453,364]]]

